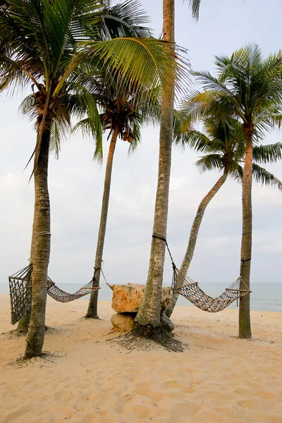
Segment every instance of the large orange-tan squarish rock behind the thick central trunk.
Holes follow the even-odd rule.
[[[145,290],[144,285],[128,283],[128,285],[114,285],[111,307],[115,312],[137,312]],[[161,311],[168,305],[170,288],[166,286],[161,295]]]

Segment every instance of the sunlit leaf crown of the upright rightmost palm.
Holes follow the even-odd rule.
[[[234,116],[255,130],[257,137],[280,125],[282,118],[282,54],[262,57],[257,44],[248,44],[231,57],[216,56],[217,75],[193,72],[203,92],[183,102],[186,123],[201,116]]]

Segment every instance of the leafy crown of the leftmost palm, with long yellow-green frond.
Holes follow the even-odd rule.
[[[175,58],[161,40],[131,37],[146,33],[135,22],[137,16],[145,22],[140,9],[137,16],[126,16],[134,3],[116,6],[118,16],[117,9],[107,15],[99,0],[7,0],[0,9],[0,44],[6,47],[0,56],[1,90],[33,82],[38,89],[44,83],[48,91],[52,81],[54,95],[70,79],[80,81],[81,72],[95,75],[105,66],[119,78],[129,75],[136,86],[166,85],[167,75],[176,71]],[[106,23],[113,16],[118,19],[111,29]],[[128,36],[110,39],[113,33]]]

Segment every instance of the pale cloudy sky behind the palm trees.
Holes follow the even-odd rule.
[[[161,33],[161,0],[142,0]],[[281,0],[202,0],[200,19],[192,20],[187,4],[176,0],[176,42],[188,49],[195,70],[214,72],[214,55],[230,55],[257,42],[266,56],[281,48]],[[27,91],[27,93],[31,92]],[[32,123],[20,115],[23,94],[0,99],[0,283],[27,265],[33,217],[32,168],[23,171],[35,146]],[[264,143],[280,142],[275,131]],[[109,143],[104,143],[106,157]],[[128,156],[118,140],[104,246],[104,274],[109,283],[145,283],[157,189],[159,129],[145,128],[142,144]],[[87,283],[92,278],[99,228],[105,163],[92,160],[94,144],[80,134],[61,146],[49,166],[51,257],[49,276],[56,283]],[[167,240],[178,266],[202,197],[219,173],[200,173],[197,156],[173,147]],[[267,166],[282,180],[282,165]],[[251,283],[281,282],[282,193],[254,184]],[[228,180],[204,215],[190,277],[207,283],[235,281],[240,266],[241,187]],[[166,255],[164,282],[171,281]]]

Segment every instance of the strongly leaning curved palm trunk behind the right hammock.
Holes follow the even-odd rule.
[[[190,263],[192,261],[192,257],[194,255],[194,251],[195,251],[195,247],[197,243],[197,236],[198,236],[199,229],[202,223],[204,212],[206,211],[209,202],[211,202],[211,200],[214,198],[214,195],[216,195],[216,192],[218,192],[219,189],[222,187],[223,183],[225,183],[227,176],[228,176],[228,170],[225,169],[223,175],[219,178],[219,180],[217,180],[217,182],[212,187],[212,190],[210,190],[200,202],[200,205],[197,209],[197,213],[196,213],[196,216],[190,231],[188,247],[185,252],[185,256],[184,256],[180,271],[178,273],[178,278],[176,280],[176,286],[178,287],[182,286],[183,279],[187,275]],[[171,295],[171,299],[168,302],[168,306],[164,310],[164,314],[166,314],[167,317],[171,317],[173,309],[178,300],[178,295],[179,295],[178,293],[174,293],[173,295]]]

